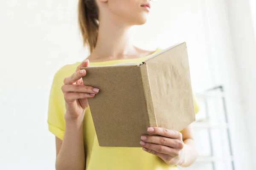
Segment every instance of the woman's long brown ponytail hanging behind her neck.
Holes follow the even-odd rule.
[[[95,0],[79,0],[78,23],[84,46],[87,45],[92,52],[96,46],[99,31],[99,8]]]

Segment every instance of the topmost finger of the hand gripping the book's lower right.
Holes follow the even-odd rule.
[[[182,139],[182,134],[180,132],[175,130],[169,130],[163,127],[148,127],[148,132],[172,139]]]

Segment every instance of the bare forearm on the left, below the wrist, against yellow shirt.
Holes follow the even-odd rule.
[[[56,159],[56,170],[84,170],[83,123],[65,118],[65,133]]]

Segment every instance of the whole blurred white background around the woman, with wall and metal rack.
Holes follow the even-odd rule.
[[[140,48],[187,42],[201,105],[198,160],[181,170],[256,170],[256,1],[159,0],[133,29]],[[0,169],[53,170],[48,131],[55,72],[85,59],[77,0],[0,1]]]

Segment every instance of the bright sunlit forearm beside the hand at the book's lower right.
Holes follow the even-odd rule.
[[[186,139],[183,142],[185,145],[182,150],[179,165],[181,167],[188,167],[197,159],[198,151],[195,147],[195,141],[193,139]]]

